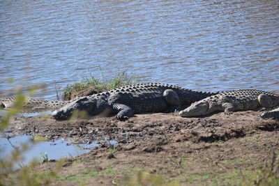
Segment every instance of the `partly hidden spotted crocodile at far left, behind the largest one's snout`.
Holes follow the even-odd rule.
[[[16,98],[0,98],[0,108],[9,108],[15,105],[17,101]],[[22,107],[23,110],[55,110],[63,107],[64,105],[68,104],[70,101],[47,101],[47,100],[40,100],[36,98],[27,98],[24,102]]]

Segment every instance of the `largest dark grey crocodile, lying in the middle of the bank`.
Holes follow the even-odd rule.
[[[174,111],[216,93],[191,91],[169,84],[133,84],[78,98],[53,112],[56,120],[66,120],[75,110],[88,116],[116,114],[119,120],[142,112]],[[105,114],[104,114],[105,113]]]

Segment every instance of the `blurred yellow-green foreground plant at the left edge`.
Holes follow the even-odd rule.
[[[3,114],[0,121],[0,134],[4,136],[5,129],[8,127],[10,121],[22,110],[24,103],[33,89],[29,91],[28,95],[24,95],[19,92],[16,95],[17,101],[15,105],[8,109],[8,111]],[[36,144],[37,142],[45,141],[43,137],[33,137],[32,143]],[[22,144],[21,148],[15,148],[13,152],[9,155],[7,160],[0,161],[0,186],[1,185],[49,185],[54,178],[56,178],[56,173],[54,171],[48,173],[47,175],[38,175],[38,173],[33,172],[33,168],[38,165],[37,161],[31,162],[28,166],[20,164],[22,161],[22,155],[24,152],[30,149],[32,144],[29,142]],[[1,149],[0,149],[1,153]],[[19,165],[20,170],[15,171],[15,166]]]

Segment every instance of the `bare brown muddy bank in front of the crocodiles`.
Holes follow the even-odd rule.
[[[36,166],[56,171],[53,185],[246,185],[251,176],[279,154],[279,121],[259,118],[259,111],[203,118],[173,114],[137,114],[128,121],[114,116],[55,121],[52,117],[17,117],[7,132],[65,139],[72,144],[103,142],[90,153]]]

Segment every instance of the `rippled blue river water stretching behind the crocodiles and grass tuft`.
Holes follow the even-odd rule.
[[[0,0],[0,96],[128,70],[199,91],[279,93],[278,0]]]

